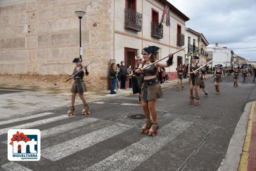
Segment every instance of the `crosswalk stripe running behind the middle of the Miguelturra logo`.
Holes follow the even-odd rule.
[[[41,139],[45,138],[45,137],[48,137],[48,136],[55,136],[59,133],[63,133],[63,132],[68,131],[68,130],[79,128],[83,125],[93,123],[93,122],[96,122],[98,120],[99,119],[96,119],[96,118],[86,118],[86,119],[81,119],[79,121],[70,122],[70,123],[67,123],[67,124],[64,124],[64,125],[59,125],[57,127],[49,128],[47,130],[42,130],[41,131]],[[7,140],[3,141],[3,143],[7,144]]]

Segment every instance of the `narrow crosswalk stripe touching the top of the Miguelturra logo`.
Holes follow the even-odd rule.
[[[3,129],[0,129],[0,135],[3,135],[5,133],[7,133],[9,129],[31,128],[31,127],[35,127],[35,126],[38,126],[38,125],[44,125],[44,124],[47,124],[49,122],[58,121],[60,119],[66,119],[68,117],[70,117],[70,116],[67,116],[67,115],[55,116],[55,117],[52,117],[52,118],[42,119],[42,120],[35,121],[35,122],[30,122],[30,123],[26,123],[26,124],[22,124],[22,125],[16,125],[16,126],[12,126],[12,127],[9,127],[9,128],[3,128]]]

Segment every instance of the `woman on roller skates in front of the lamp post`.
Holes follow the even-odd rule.
[[[76,67],[71,72],[70,77],[83,68],[81,58],[74,58],[73,63],[76,63]],[[70,108],[67,112],[69,116],[75,115],[74,104],[75,104],[76,93],[79,94],[79,97],[81,98],[81,100],[84,103],[84,108],[82,110],[82,114],[83,115],[90,114],[88,104],[86,103],[86,100],[84,99],[84,94],[83,94],[84,92],[87,91],[86,90],[86,85],[85,85],[84,79],[83,79],[84,73],[85,73],[85,75],[89,75],[89,72],[87,71],[87,67],[85,67],[84,69],[79,71],[73,77],[75,81],[74,81],[74,83],[72,85],[72,88],[71,88],[71,92],[72,92],[72,94],[71,94],[71,106],[70,106]]]

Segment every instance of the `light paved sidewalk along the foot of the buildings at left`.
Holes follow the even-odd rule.
[[[183,79],[184,83],[188,81],[188,78]],[[164,89],[176,85],[177,80],[172,80],[161,84],[161,87]],[[5,92],[0,94],[0,119],[9,119],[63,106],[67,106],[65,110],[68,110],[71,101],[70,88],[0,84],[0,91]],[[110,90],[91,90],[85,92],[84,97],[87,103],[91,103],[131,94],[133,94],[132,89],[118,91],[116,94],[110,94]],[[75,105],[77,104],[82,104],[79,96],[76,96]]]

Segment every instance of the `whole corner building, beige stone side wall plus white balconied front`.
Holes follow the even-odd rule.
[[[171,27],[155,28],[166,3]],[[88,87],[108,87],[110,60],[134,64],[145,46],[159,46],[158,58],[184,46],[189,18],[166,0],[0,0],[0,74],[67,78],[79,57],[75,11],[87,13],[81,19],[83,64],[95,60]],[[185,60],[185,51],[177,55],[170,76]]]

